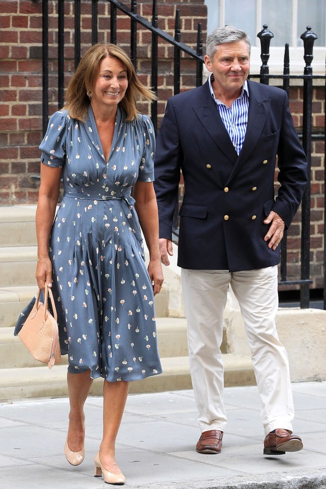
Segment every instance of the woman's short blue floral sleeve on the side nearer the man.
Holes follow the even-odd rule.
[[[144,150],[139,165],[138,180],[141,182],[153,182],[155,133],[153,123],[148,116],[142,116],[141,128],[144,138]]]

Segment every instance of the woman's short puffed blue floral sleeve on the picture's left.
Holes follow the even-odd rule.
[[[66,160],[66,143],[70,118],[67,111],[51,115],[44,139],[40,145],[41,161],[49,167],[63,167]]]

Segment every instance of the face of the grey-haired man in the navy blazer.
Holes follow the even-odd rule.
[[[250,69],[249,50],[245,41],[221,44],[213,60],[205,55],[204,61],[206,68],[213,71],[214,89],[218,93],[232,94],[242,89]]]

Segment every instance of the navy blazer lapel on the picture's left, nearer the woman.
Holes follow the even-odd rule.
[[[201,97],[197,101],[197,104],[193,105],[193,110],[213,141],[234,164],[238,158],[238,154],[236,153],[225,125],[223,124],[216,103],[211,96],[208,82],[201,88]]]

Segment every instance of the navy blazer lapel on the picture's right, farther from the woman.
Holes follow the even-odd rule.
[[[259,88],[259,84],[250,82],[248,80],[248,87],[249,111],[246,136],[240,154],[236,159],[235,165],[229,175],[226,185],[232,180],[234,175],[239,172],[246,161],[248,161],[250,154],[254,150],[260,138],[270,110],[271,99],[265,99],[264,97],[260,96],[259,90],[257,90],[257,88]]]

